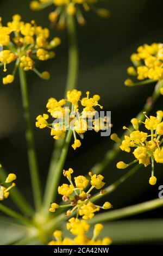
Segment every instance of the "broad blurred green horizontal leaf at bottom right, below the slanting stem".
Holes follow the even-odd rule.
[[[163,240],[163,219],[118,221],[104,224],[101,237],[109,236],[114,245]]]

